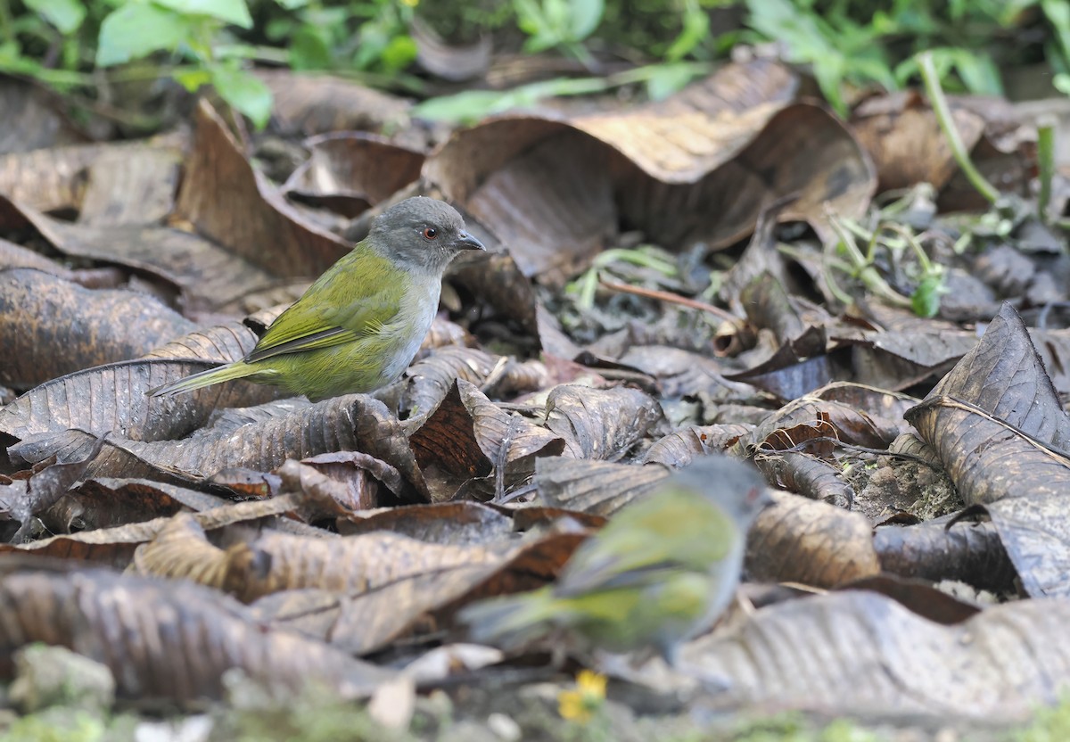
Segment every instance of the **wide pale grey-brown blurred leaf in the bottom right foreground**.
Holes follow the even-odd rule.
[[[762,609],[683,657],[730,683],[719,706],[1025,721],[1070,683],[1067,621],[1070,602],[1059,599],[943,626],[884,595],[847,591]]]

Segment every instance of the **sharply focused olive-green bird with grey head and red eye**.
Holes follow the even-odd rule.
[[[401,201],[268,327],[248,355],[149,394],[247,379],[317,402],[385,387],[419,350],[439,308],[442,274],[465,249],[485,248],[456,209],[423,196]]]

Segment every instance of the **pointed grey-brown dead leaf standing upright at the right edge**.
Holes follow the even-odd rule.
[[[907,420],[992,517],[1026,592],[1070,594],[1070,418],[1009,304]]]

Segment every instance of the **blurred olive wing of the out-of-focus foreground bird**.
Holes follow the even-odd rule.
[[[740,537],[724,512],[698,494],[664,493],[628,505],[572,556],[561,596],[647,584],[664,570],[706,571]]]

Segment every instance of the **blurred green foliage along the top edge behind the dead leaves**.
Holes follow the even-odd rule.
[[[190,90],[214,86],[262,125],[271,96],[250,73],[255,62],[419,92],[408,74],[417,14],[447,42],[490,34],[505,48],[571,56],[592,72],[596,59],[637,65],[600,84],[557,78],[423,109],[454,121],[472,119],[463,104],[473,100],[475,110],[494,111],[624,85],[657,100],[740,43],[771,42],[808,65],[841,115],[852,87],[917,81],[922,50],[949,91],[999,94],[1003,67],[1046,61],[1054,86],[1070,93],[1067,0],[0,0],[0,72],[90,100],[102,80],[170,76]]]

